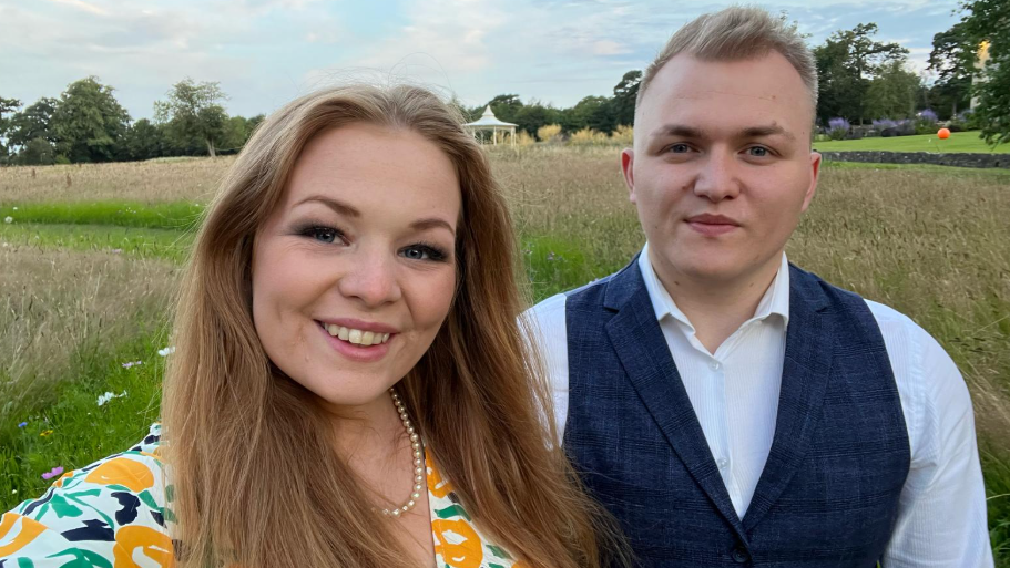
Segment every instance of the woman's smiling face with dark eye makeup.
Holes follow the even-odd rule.
[[[385,395],[431,344],[456,289],[460,188],[407,130],[313,138],[255,238],[253,319],[267,355],[335,407]]]

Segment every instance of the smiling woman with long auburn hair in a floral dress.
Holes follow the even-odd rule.
[[[550,442],[514,270],[488,162],[437,97],[288,104],[196,240],[165,444],[155,425],[7,514],[0,559],[600,566],[613,539]]]

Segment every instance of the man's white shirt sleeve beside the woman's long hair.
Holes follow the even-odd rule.
[[[538,350],[544,365],[554,402],[554,423],[558,426],[558,443],[564,438],[564,423],[568,419],[568,324],[564,318],[565,296],[559,293],[527,310],[527,320],[532,345]]]

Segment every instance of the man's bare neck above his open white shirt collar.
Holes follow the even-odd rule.
[[[754,317],[761,299],[775,281],[782,266],[782,255],[776,255],[765,266],[733,281],[702,281],[671,273],[672,270],[664,270],[669,265],[664,266],[653,259],[652,250],[650,262],[660,285],[694,326],[697,340],[710,353],[715,353],[730,335]]]

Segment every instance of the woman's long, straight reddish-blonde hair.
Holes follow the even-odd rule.
[[[526,331],[516,241],[488,161],[458,113],[412,86],[298,99],[246,144],[210,205],[178,301],[163,420],[184,567],[408,566],[334,450],[313,394],[271,364],[253,326],[253,238],[306,143],[369,123],[409,130],[452,161],[462,209],[458,289],[405,404],[475,523],[530,567],[596,567],[616,540],[557,444]]]

